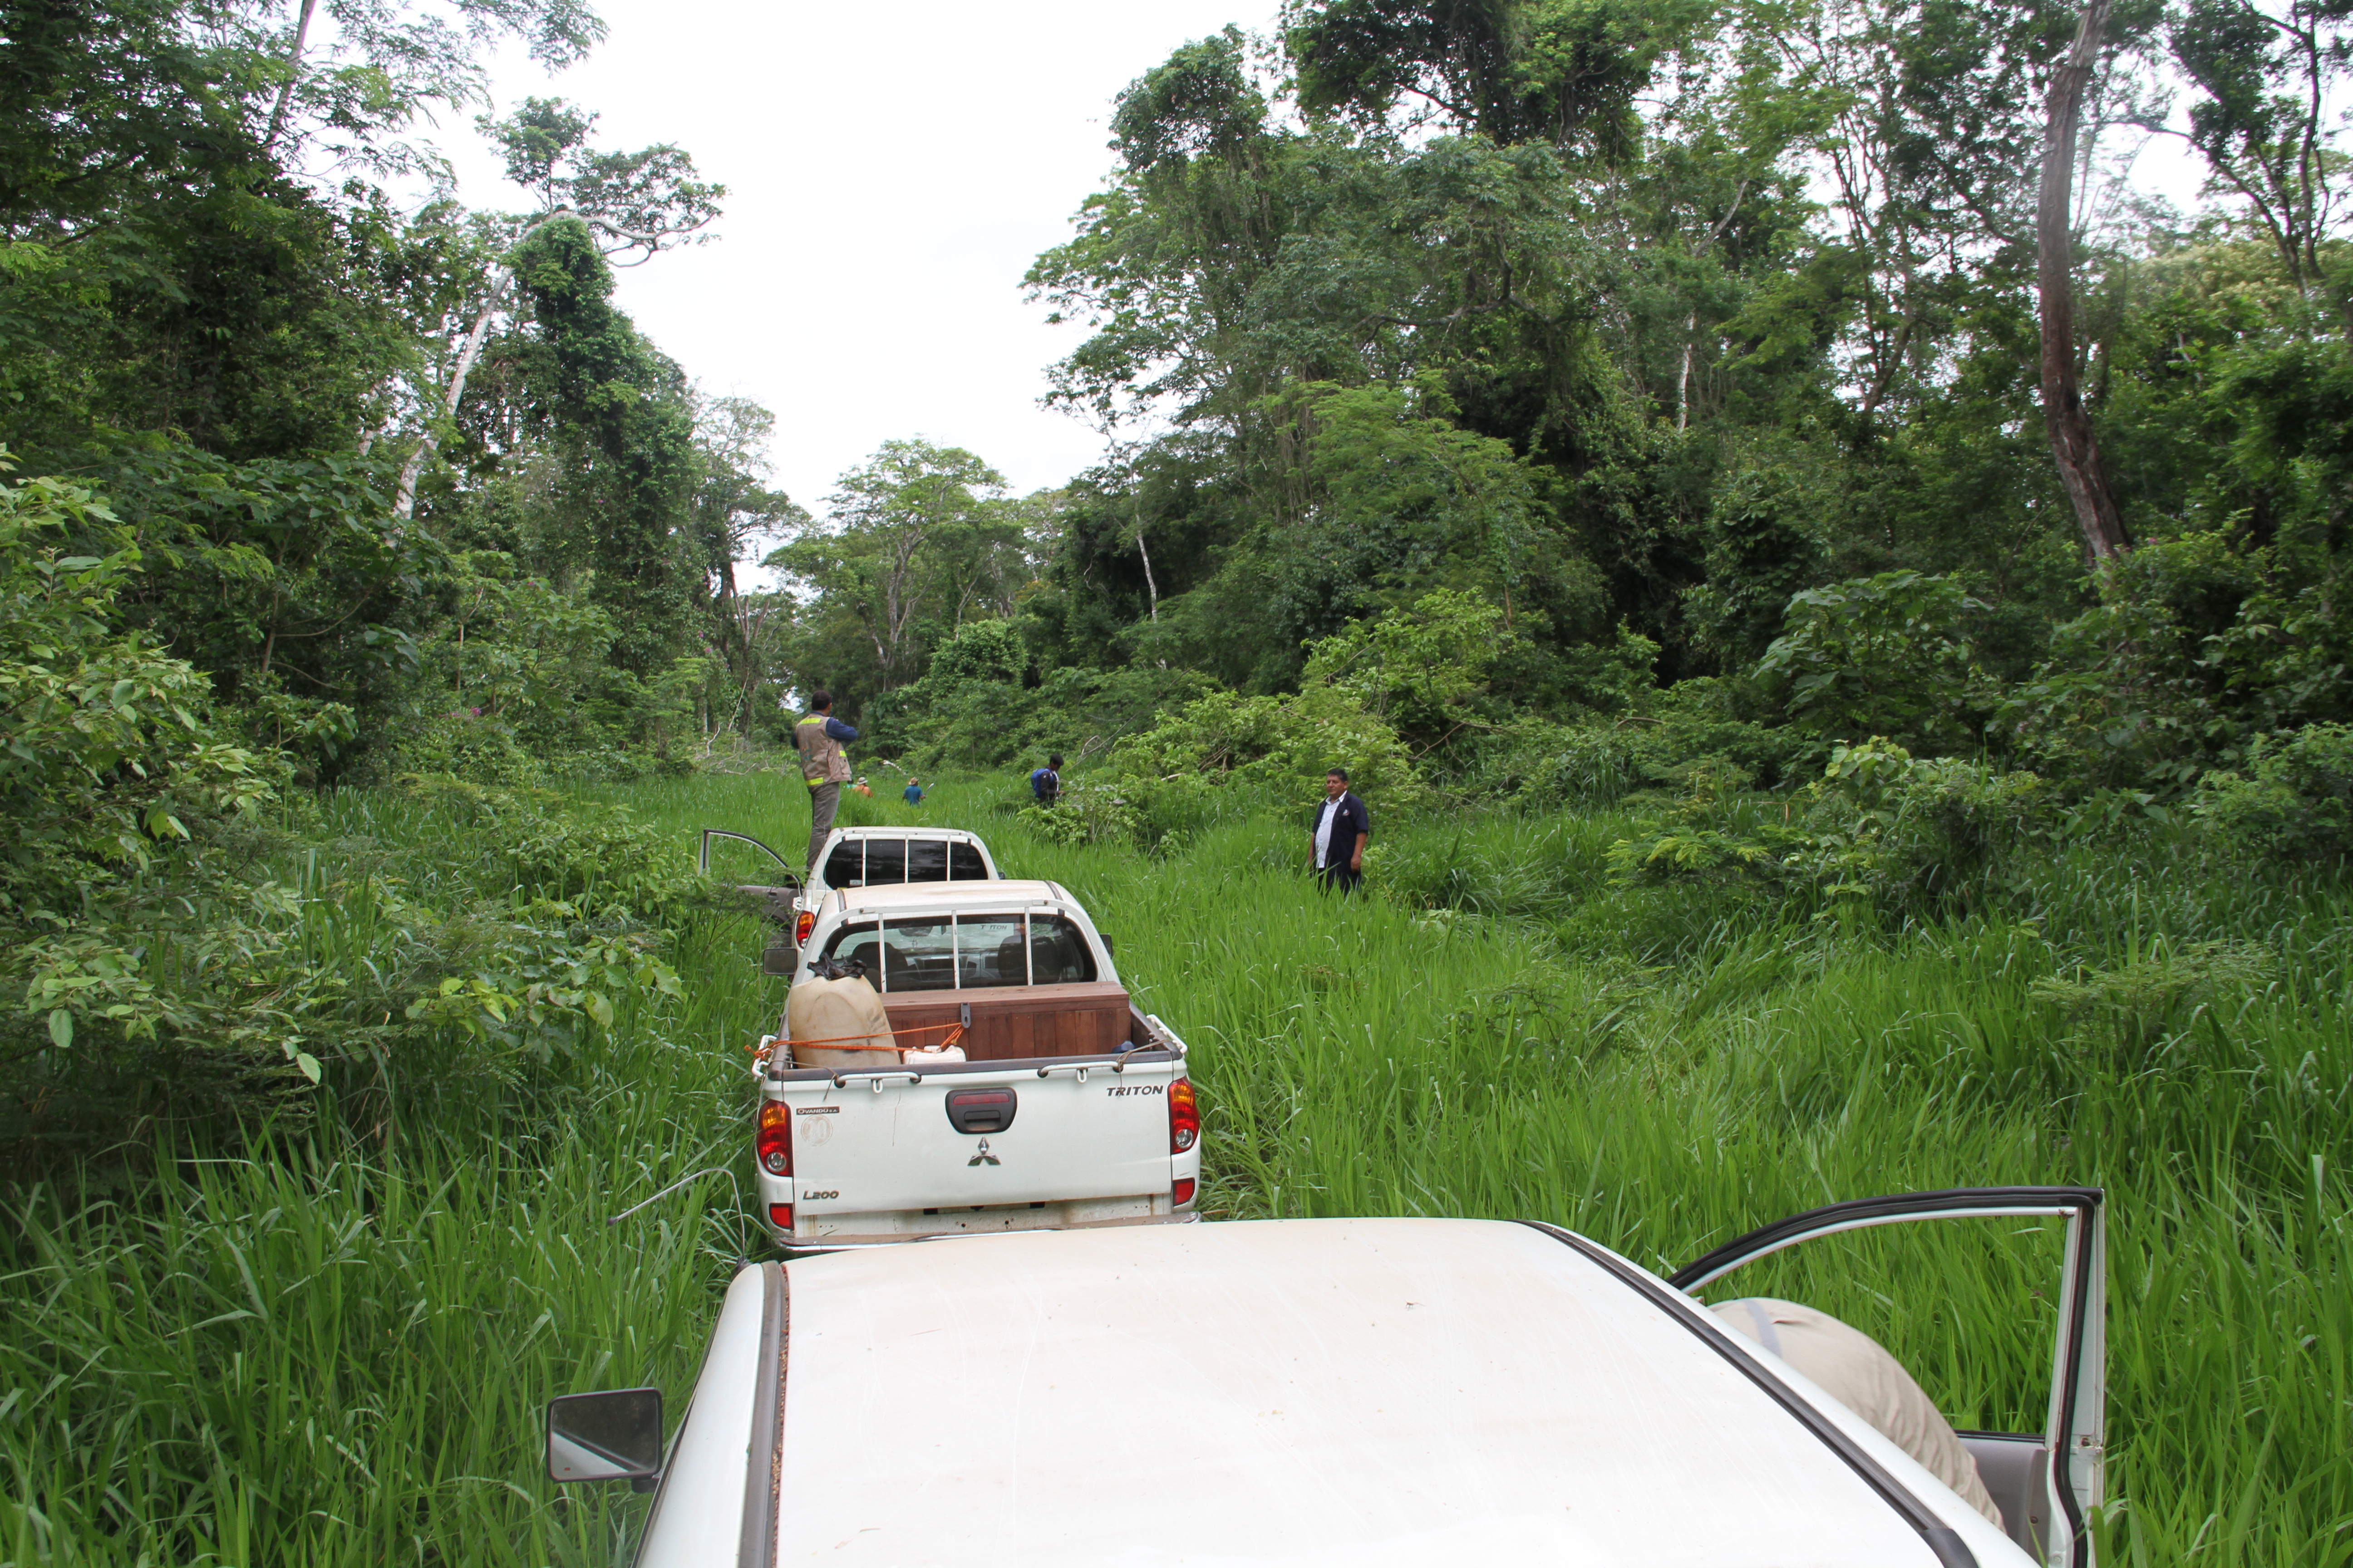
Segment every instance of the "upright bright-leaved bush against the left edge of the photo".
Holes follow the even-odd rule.
[[[139,550],[61,555],[68,531],[108,541],[113,515],[61,480],[0,484],[0,985],[19,997],[0,1060],[162,1030],[205,1030],[242,1058],[306,987],[240,919],[280,917],[271,893],[198,919],[219,884],[198,849],[285,769],[212,726],[202,675],[115,625]],[[195,994],[158,976],[162,931],[195,945]],[[299,1048],[278,1060],[318,1077]]]

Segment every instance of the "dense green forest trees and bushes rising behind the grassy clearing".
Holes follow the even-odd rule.
[[[1104,463],[892,440],[821,515],[612,303],[713,235],[682,148],[527,99],[489,212],[419,139],[487,42],[591,49],[576,0],[5,16],[12,1138],[106,1135],[99,1063],[195,1072],[179,1114],[442,1027],[287,952],[264,806],[680,771],[816,686],[868,762],[1061,750],[1061,832],[1136,844],[1344,762],[1384,811],[1657,797],[1626,875],[1861,886],[1826,769],[2341,849],[2339,7],[1301,0],[1118,96],[1028,277]],[[2113,545],[2035,418],[2054,287]],[[1715,823],[1751,790],[1784,835]]]

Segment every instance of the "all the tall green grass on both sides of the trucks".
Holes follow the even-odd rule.
[[[1181,851],[1068,849],[1019,783],[847,820],[972,825],[1078,891],[1193,1044],[1207,1204],[1235,1218],[1537,1215],[1673,1265],[1835,1197],[1984,1182],[2113,1194],[2111,1563],[2353,1561],[2353,896],[2186,842],[2075,851],[2007,912],[1897,936],[1699,891],[1609,891],[1609,818],[1388,825],[1329,903],[1294,820]],[[788,856],[798,790],[600,790]],[[431,832],[348,799],[365,832]],[[367,818],[365,823],[360,818]],[[362,832],[365,830],[365,832]],[[454,844],[452,853],[487,853]],[[727,879],[767,879],[725,858]],[[344,931],[365,957],[365,933]],[[729,1187],[602,1225],[734,1154],[739,1046],[774,1009],[758,929],[706,919],[687,999],[553,1091],[271,1159],[181,1166],[122,1208],[28,1204],[9,1291],[12,1561],[609,1561],[624,1495],[555,1502],[536,1403],[680,1392],[734,1248]],[[2089,976],[2078,1006],[2038,997]],[[1887,1340],[1958,1425],[2033,1427],[2054,1237],[1939,1225],[1734,1276]],[[209,1319],[209,1321],[207,1321]],[[52,1385],[54,1387],[45,1387]],[[38,1509],[38,1512],[35,1512]]]

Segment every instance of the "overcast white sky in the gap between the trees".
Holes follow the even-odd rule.
[[[1111,169],[1111,99],[1278,0],[812,5],[600,0],[612,33],[525,96],[598,110],[605,150],[675,141],[727,186],[711,244],[619,275],[616,301],[706,393],[776,414],[774,482],[814,512],[885,440],[969,447],[1014,494],[1094,463],[1101,437],[1038,407],[1075,327],[1021,299],[1038,252]],[[471,132],[459,197],[527,205]]]

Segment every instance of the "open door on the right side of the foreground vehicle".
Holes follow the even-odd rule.
[[[2108,1246],[2099,1187],[1951,1187],[1809,1208],[1725,1241],[1668,1276],[1697,1293],[1744,1262],[1868,1225],[2061,1215],[2059,1333],[2052,1349],[2049,1418],[2042,1432],[1962,1432],[2009,1537],[2049,1568],[2094,1568],[2085,1516],[2101,1500],[2108,1406]],[[2057,1519],[2052,1516],[2057,1500]],[[2052,1528],[2057,1523],[2057,1528]]]

